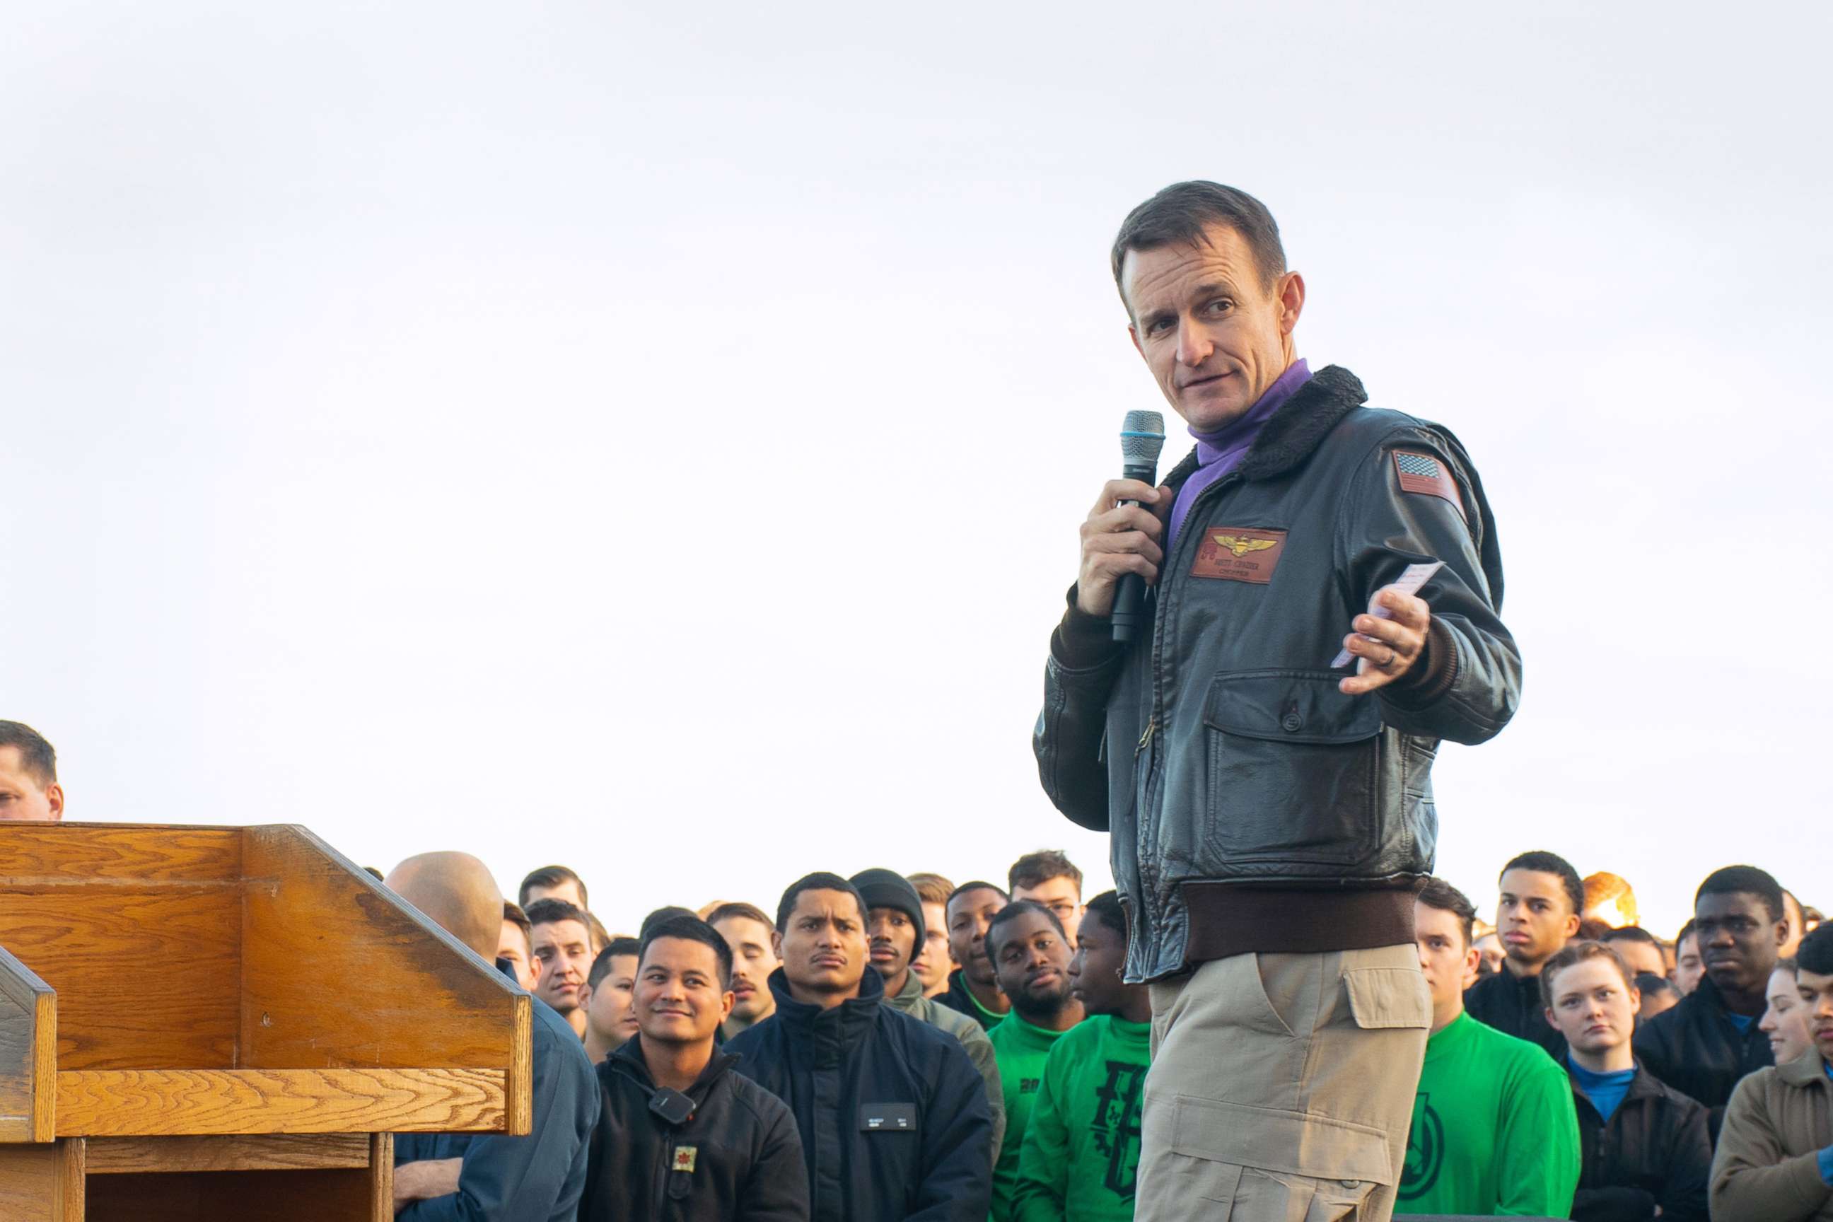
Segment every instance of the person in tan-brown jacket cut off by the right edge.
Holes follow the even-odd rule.
[[[1714,1218],[1833,1218],[1833,925],[1802,938],[1795,989],[1813,1052],[1758,1070],[1732,1092],[1712,1160]]]

